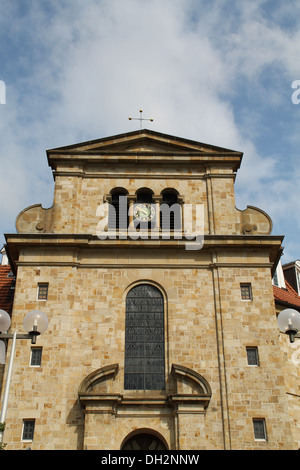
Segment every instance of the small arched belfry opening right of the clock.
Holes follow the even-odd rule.
[[[178,203],[178,192],[175,189],[164,189],[161,192],[160,228],[162,230],[181,230],[181,205]]]

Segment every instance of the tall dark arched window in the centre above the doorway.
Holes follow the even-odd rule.
[[[126,298],[125,390],[165,389],[164,298],[150,284]]]

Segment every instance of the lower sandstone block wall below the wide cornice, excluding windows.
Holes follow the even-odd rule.
[[[24,312],[39,308],[48,315],[49,329],[38,338],[43,346],[40,368],[29,366],[27,341],[17,348],[5,433],[10,448],[26,446],[20,438],[23,419],[29,418],[36,419],[34,449],[119,449],[126,435],[139,428],[155,429],[173,449],[293,447],[269,268],[212,268],[203,252],[198,268],[180,267],[177,261],[178,269],[169,269],[165,258],[163,267],[137,269],[129,252],[127,256],[132,266],[127,261],[123,268],[113,266],[112,256],[111,266],[101,268],[88,251],[80,259],[88,257],[89,267],[67,266],[66,260],[62,266],[49,266],[47,254],[34,257],[31,252],[33,267],[22,257],[13,328],[21,329]],[[58,253],[55,259],[60,259]],[[49,282],[47,301],[37,300],[39,282]],[[135,397],[123,384],[125,298],[137,282],[154,283],[165,295],[167,389],[157,400],[172,392],[172,364],[180,364],[209,383],[207,409],[179,404],[174,412],[160,404],[158,411],[149,403],[139,408],[123,403],[124,397]],[[252,301],[241,300],[241,282],[251,282]],[[247,365],[246,346],[258,347],[259,367]],[[80,383],[115,363],[118,373],[100,391],[119,394],[122,404],[92,404],[84,416]],[[145,398],[143,392],[136,394]],[[252,419],[257,417],[266,419],[267,442],[254,440]]]

